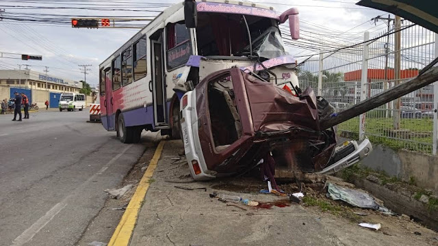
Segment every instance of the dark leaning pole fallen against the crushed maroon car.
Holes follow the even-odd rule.
[[[360,115],[361,113],[370,111],[371,109],[384,105],[387,102],[391,102],[391,100],[396,100],[397,98],[400,98],[401,96],[414,92],[415,90],[418,90],[421,87],[430,85],[435,81],[438,81],[438,66],[430,68],[430,70],[428,70],[424,74],[421,74],[415,77],[414,79],[411,79],[410,81],[400,83],[399,85],[396,85],[391,89],[386,90],[385,92],[377,94],[376,96],[372,96],[371,98],[368,98],[366,100],[363,100],[359,102],[357,105],[337,113],[337,115],[332,115],[331,117],[329,116],[327,118],[323,118],[322,120],[320,120],[320,128],[321,129],[331,128],[332,126],[335,126],[339,123],[350,120],[351,118],[355,118],[357,115]]]

